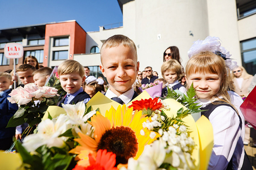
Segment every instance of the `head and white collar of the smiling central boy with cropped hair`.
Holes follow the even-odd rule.
[[[139,71],[135,43],[124,35],[108,38],[100,49],[100,69],[110,85],[105,96],[127,104],[138,94],[132,85]]]

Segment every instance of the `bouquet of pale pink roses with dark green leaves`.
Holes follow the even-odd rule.
[[[13,89],[7,99],[17,103],[20,108],[9,120],[7,127],[16,127],[28,123],[31,127],[41,122],[48,106],[53,105],[52,97],[59,96],[54,87],[37,87],[34,83]]]

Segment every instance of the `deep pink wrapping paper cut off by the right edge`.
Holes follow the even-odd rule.
[[[244,115],[244,119],[250,123],[250,125],[256,129],[256,87],[244,100],[240,106],[240,110]]]

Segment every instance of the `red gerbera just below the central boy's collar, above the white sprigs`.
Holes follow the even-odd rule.
[[[142,110],[143,115],[146,114],[151,116],[154,111],[164,108],[164,105],[161,102],[158,103],[158,98],[150,98],[145,100],[136,100],[132,102],[132,105],[129,106],[129,108],[131,107],[133,107],[133,110]]]

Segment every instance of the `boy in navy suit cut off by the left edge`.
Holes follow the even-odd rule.
[[[12,85],[12,76],[9,73],[0,72],[0,150],[11,147],[12,136],[15,135],[15,127],[5,128],[10,118],[18,110],[15,103],[10,103],[7,97],[11,93],[9,86]]]

